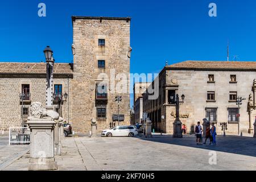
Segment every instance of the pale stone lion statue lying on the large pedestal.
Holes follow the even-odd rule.
[[[52,118],[58,121],[63,121],[56,111],[46,110],[41,102],[33,102],[30,106],[30,116],[34,118]]]

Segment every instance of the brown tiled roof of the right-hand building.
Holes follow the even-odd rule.
[[[168,69],[256,70],[256,61],[184,61],[166,66]]]

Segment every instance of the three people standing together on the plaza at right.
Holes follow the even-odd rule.
[[[196,144],[202,144],[203,143],[203,127],[201,127],[200,122],[197,122],[196,129]],[[212,123],[212,127],[207,127],[206,134],[205,134],[205,142],[206,144],[207,139],[209,138],[210,144],[216,145],[216,127],[214,126],[214,123]]]

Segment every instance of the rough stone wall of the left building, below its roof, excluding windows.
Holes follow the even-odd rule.
[[[46,76],[12,76],[1,75],[0,77],[0,130],[7,131],[9,127],[22,126],[22,103],[19,94],[22,92],[22,84],[30,84],[31,102],[42,102],[46,107]],[[63,85],[63,94],[68,93],[67,78],[54,78],[53,84]],[[70,81],[70,96],[72,97],[72,81]],[[70,99],[72,101],[72,99]],[[24,102],[23,107],[30,107],[31,102]],[[54,105],[57,107],[57,105]],[[70,103],[69,117],[72,121],[72,107]],[[24,116],[26,118],[27,116]],[[63,117],[68,120],[68,102],[63,104]]]

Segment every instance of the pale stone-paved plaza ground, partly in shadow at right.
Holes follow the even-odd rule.
[[[216,165],[209,159],[216,152]],[[3,170],[27,170],[28,154]],[[194,136],[172,138],[68,137],[62,155],[56,156],[59,170],[256,170],[256,139],[217,137],[217,146],[197,146]],[[212,160],[210,160],[212,161]]]

